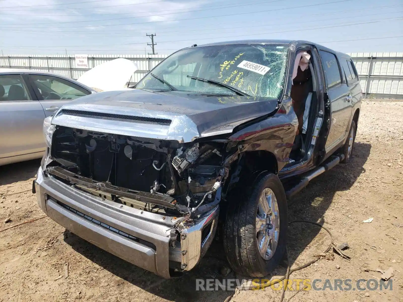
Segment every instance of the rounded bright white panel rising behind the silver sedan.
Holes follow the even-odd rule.
[[[118,58],[95,66],[77,81],[97,91],[122,90],[137,69],[137,64],[131,60]]]

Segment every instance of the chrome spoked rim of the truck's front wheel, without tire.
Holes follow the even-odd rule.
[[[260,255],[270,260],[274,255],[280,233],[280,215],[274,192],[265,188],[260,194],[256,214],[256,238]]]

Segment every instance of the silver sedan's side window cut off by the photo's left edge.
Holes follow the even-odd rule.
[[[0,75],[0,101],[26,101],[30,99],[19,74]]]

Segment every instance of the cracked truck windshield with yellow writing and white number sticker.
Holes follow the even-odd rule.
[[[288,50],[285,44],[238,44],[181,50],[156,66],[136,88],[279,98],[285,83]]]

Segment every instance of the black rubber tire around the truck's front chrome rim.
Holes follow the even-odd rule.
[[[280,218],[277,247],[268,260],[265,260],[260,253],[256,234],[259,198],[265,188],[271,189],[274,193]],[[270,172],[261,173],[247,188],[242,188],[241,194],[229,200],[223,242],[229,264],[236,273],[265,277],[278,266],[286,251],[287,215],[287,198],[283,184]],[[270,223],[268,225],[270,227]]]

